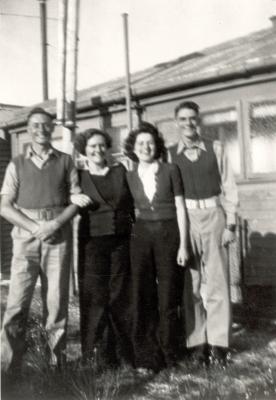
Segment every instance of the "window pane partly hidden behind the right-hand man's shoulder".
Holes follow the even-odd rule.
[[[241,173],[240,147],[238,141],[237,112],[235,109],[222,110],[202,115],[203,137],[220,140],[224,144],[232,169]]]

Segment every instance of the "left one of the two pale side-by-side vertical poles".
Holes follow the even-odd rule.
[[[57,68],[57,124],[65,119],[65,72],[66,72],[66,19],[67,0],[58,3],[58,68]]]

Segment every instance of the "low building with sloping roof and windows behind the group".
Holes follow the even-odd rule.
[[[255,315],[276,317],[276,17],[272,27],[155,65],[131,76],[133,119],[155,123],[177,140],[174,107],[194,100],[203,135],[225,144],[239,189],[239,244],[233,280]],[[78,131],[102,127],[122,157],[127,133],[124,78],[78,93]],[[55,101],[40,104],[55,114]],[[13,155],[28,143],[23,109],[6,121]],[[61,136],[54,135],[57,146]],[[239,247],[240,246],[240,247]],[[238,261],[237,261],[238,260]],[[231,264],[232,265],[232,264]],[[264,314],[265,313],[265,314]]]

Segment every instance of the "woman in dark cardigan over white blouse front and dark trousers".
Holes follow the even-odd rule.
[[[176,364],[181,267],[187,261],[186,214],[178,167],[159,162],[158,130],[142,123],[125,142],[137,167],[127,173],[135,203],[131,272],[135,366],[160,370]],[[179,266],[180,265],[180,266]]]

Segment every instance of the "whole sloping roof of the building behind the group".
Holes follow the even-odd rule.
[[[233,39],[216,46],[186,54],[131,75],[132,93],[135,96],[150,95],[155,91],[178,86],[196,85],[197,82],[217,79],[223,81],[231,74],[253,75],[256,71],[276,72],[276,29],[261,30]],[[102,104],[122,99],[125,96],[125,78],[117,78],[78,91],[77,107],[93,105],[93,98]],[[55,114],[55,100],[48,100],[35,106],[42,106]],[[4,126],[23,123],[29,110],[26,107],[5,120]],[[0,125],[0,127],[1,127]]]

